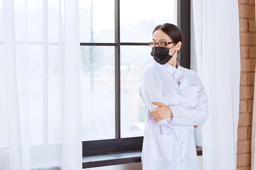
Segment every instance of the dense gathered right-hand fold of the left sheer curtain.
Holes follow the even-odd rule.
[[[82,167],[81,57],[78,11],[78,0],[65,0],[64,110],[62,114],[62,156],[65,170],[79,170]]]

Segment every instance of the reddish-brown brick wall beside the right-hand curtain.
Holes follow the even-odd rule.
[[[252,110],[256,63],[255,0],[238,0],[240,27],[240,104],[236,170],[251,170]]]

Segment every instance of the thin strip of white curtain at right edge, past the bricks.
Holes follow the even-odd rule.
[[[255,0],[256,2],[256,0]],[[256,8],[255,8],[256,13]],[[256,15],[255,15],[256,18]],[[255,68],[256,73],[256,68]],[[256,170],[256,74],[254,80],[254,101],[253,101],[253,111],[252,111],[252,157],[251,157],[251,170]]]

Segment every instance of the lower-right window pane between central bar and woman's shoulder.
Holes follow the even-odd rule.
[[[121,46],[121,137],[144,135],[145,105],[138,95],[141,71],[155,60],[149,46]]]

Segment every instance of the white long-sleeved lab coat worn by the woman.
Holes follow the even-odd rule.
[[[194,71],[154,63],[144,68],[139,96],[146,105],[141,162],[143,170],[198,170],[194,125],[208,117],[208,98]],[[155,122],[150,111],[161,102],[173,117]]]

